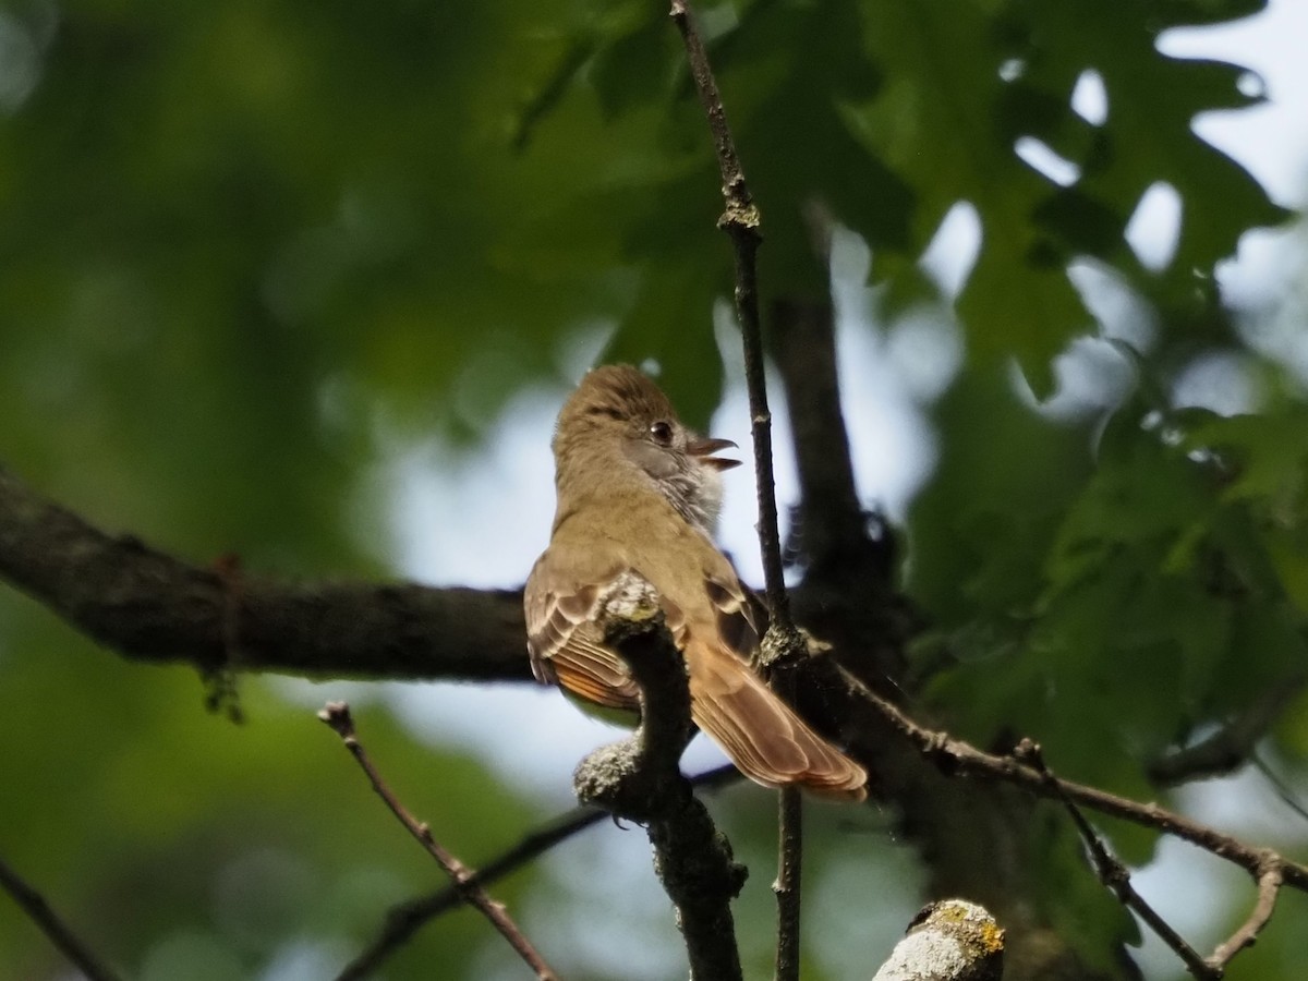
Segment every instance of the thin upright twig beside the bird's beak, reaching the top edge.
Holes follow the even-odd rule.
[[[695,89],[704,105],[722,174],[722,198],[726,204],[718,228],[727,233],[735,255],[735,307],[744,345],[744,375],[749,390],[749,421],[753,437],[753,473],[759,500],[759,545],[763,552],[764,586],[772,613],[764,638],[764,664],[785,666],[793,662],[804,645],[790,617],[790,598],[782,574],[781,534],[777,526],[777,490],[772,468],[772,412],[768,408],[768,386],[764,369],[763,326],[759,318],[757,252],[763,235],[761,216],[744,170],[736,154],[735,140],[727,126],[726,110],[717,80],[709,65],[704,41],[695,26],[685,0],[672,0],[671,17],[685,44]],[[778,824],[780,855],[777,869],[777,981],[799,978],[799,910],[803,802],[799,791],[780,791]]]

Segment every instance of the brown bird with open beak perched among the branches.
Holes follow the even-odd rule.
[[[667,396],[627,365],[587,374],[559,413],[549,547],[527,579],[527,649],[542,683],[638,710],[623,659],[596,620],[657,603],[685,658],[695,723],[751,780],[861,800],[867,773],[818,735],[749,667],[759,630],[735,569],[712,542],[722,498],[714,456]]]

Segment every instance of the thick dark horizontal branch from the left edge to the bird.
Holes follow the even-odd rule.
[[[519,590],[242,577],[234,595],[224,566],[191,566],[132,535],[107,535],[0,467],[0,577],[132,659],[203,671],[531,678]]]

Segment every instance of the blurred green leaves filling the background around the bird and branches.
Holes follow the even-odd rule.
[[[905,585],[934,625],[923,697],[961,735],[1032,735],[1059,772],[1139,798],[1158,793],[1151,759],[1305,670],[1304,382],[1249,347],[1214,285],[1241,234],[1284,215],[1190,127],[1258,97],[1239,65],[1155,47],[1168,27],[1262,7],[701,10],[763,208],[764,307],[827,294],[821,213],[871,246],[880,322],[925,307],[961,332],[906,528]],[[710,311],[730,252],[657,3],[20,0],[0,7],[0,460],[105,527],[201,562],[235,551],[260,572],[375,576],[390,560],[357,515],[383,506],[366,480],[379,432],[475,447],[514,392],[562,381],[569,345],[596,328],[606,357],[658,361],[692,420],[718,402]],[[1071,109],[1086,72],[1105,120]],[[1076,179],[1024,162],[1023,137]],[[1184,217],[1151,268],[1124,230],[1158,183]],[[981,245],[947,311],[918,260],[959,201]],[[1045,396],[1069,341],[1120,336],[1069,279],[1074,259],[1147,303],[1155,331],[1126,358],[1127,398],[1057,416],[1010,366]],[[1247,415],[1173,404],[1213,351],[1257,366]],[[326,944],[331,969],[388,903],[436,883],[334,739],[269,688],[242,685],[251,723],[233,729],[203,712],[190,672],[123,663],[0,595],[0,855],[133,976],[205,960],[213,977],[256,977],[301,939]],[[381,708],[361,725],[468,861],[531,823],[498,777],[417,746]],[[1303,794],[1303,697],[1267,752]],[[756,803],[729,795],[725,820],[765,869]],[[900,861],[827,831],[819,895],[850,862]],[[1152,854],[1151,836],[1112,831],[1126,858]],[[1305,838],[1287,827],[1281,844],[1301,857]],[[1065,837],[1029,861],[1092,956],[1129,937]],[[539,876],[497,893],[566,895]],[[760,895],[742,921],[763,972]],[[1301,977],[1303,922],[1287,899],[1230,976]],[[487,933],[449,917],[387,977],[483,977]],[[810,951],[814,978],[837,963]],[[61,971],[0,900],[0,976]]]

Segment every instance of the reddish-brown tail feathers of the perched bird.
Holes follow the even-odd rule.
[[[749,780],[844,800],[867,795],[867,770],[814,732],[735,654],[693,637],[684,653],[695,723]]]

